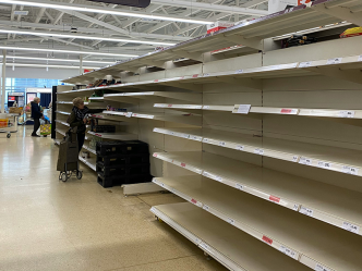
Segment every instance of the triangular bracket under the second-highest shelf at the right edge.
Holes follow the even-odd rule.
[[[362,71],[361,70],[340,70],[338,67],[307,67],[306,70],[319,73],[329,77],[339,78],[342,81],[349,81],[357,84],[362,84]]]

